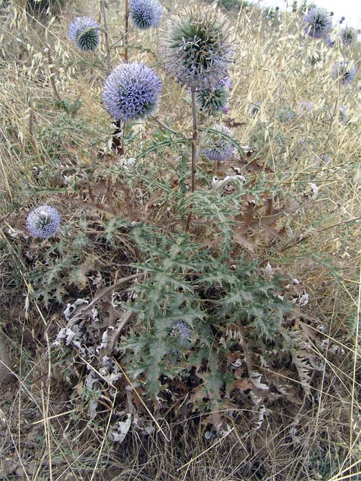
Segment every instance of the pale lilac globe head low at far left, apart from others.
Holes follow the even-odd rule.
[[[32,236],[47,238],[58,232],[61,216],[56,208],[50,207],[50,205],[40,205],[30,212],[25,224]]]

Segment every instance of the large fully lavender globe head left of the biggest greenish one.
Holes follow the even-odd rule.
[[[118,65],[105,81],[102,99],[116,120],[145,120],[155,114],[162,82],[142,63]]]

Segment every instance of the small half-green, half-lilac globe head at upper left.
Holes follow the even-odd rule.
[[[88,16],[78,16],[69,26],[69,38],[84,52],[96,50],[100,43],[100,25]]]

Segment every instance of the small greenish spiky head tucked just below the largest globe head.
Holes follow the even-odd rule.
[[[201,89],[195,93],[195,99],[199,107],[209,115],[217,115],[227,108],[228,95],[232,89],[232,80],[229,77],[218,82],[215,89]]]

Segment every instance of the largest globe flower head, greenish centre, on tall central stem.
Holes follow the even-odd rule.
[[[166,70],[193,89],[215,89],[234,56],[232,29],[213,8],[186,8],[167,25],[162,54]]]

